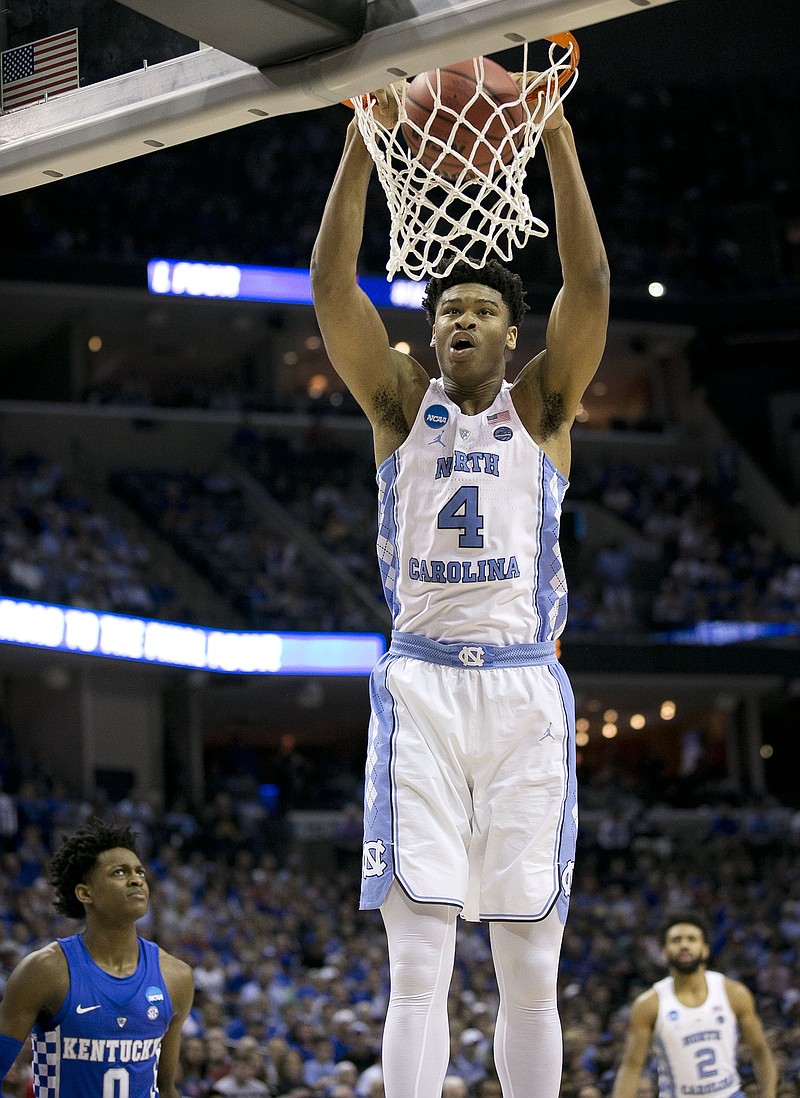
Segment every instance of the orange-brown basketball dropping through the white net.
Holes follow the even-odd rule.
[[[410,153],[430,168],[447,146],[436,171],[450,179],[464,160],[491,171],[497,152],[508,164],[523,134],[519,88],[487,57],[416,76],[406,88],[406,116],[403,134]],[[427,133],[420,133],[426,125]],[[460,156],[450,155],[450,149]]]

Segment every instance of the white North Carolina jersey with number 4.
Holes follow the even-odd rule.
[[[465,415],[435,378],[378,486],[378,556],[396,631],[487,645],[561,634],[567,480],[522,426],[507,383],[489,408]]]

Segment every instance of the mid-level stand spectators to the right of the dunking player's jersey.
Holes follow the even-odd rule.
[[[573,630],[798,619],[800,562],[754,524],[735,480],[680,460],[588,463],[578,448],[570,498],[599,502],[631,535],[596,553],[572,600]]]

